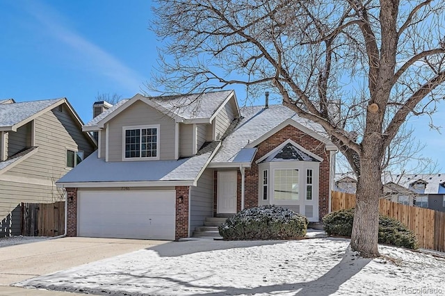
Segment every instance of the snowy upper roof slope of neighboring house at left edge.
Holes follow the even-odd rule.
[[[0,127],[18,124],[62,99],[63,98],[0,104]]]

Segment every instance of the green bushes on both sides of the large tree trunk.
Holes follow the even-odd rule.
[[[350,238],[353,233],[353,222],[354,209],[350,208],[325,215],[323,217],[323,228],[328,236],[346,236]],[[379,215],[378,242],[408,249],[417,249],[418,247],[416,236],[410,229],[407,229],[405,224],[384,215]]]

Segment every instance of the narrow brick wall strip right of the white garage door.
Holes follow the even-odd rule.
[[[188,238],[188,188],[176,186],[175,240]]]

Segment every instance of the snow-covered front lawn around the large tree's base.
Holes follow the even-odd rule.
[[[96,295],[445,295],[444,258],[380,246],[384,256],[370,260],[348,244],[170,242],[17,286]]]

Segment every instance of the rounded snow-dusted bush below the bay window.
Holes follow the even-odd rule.
[[[290,240],[306,235],[307,217],[288,208],[245,208],[218,227],[225,240]]]

